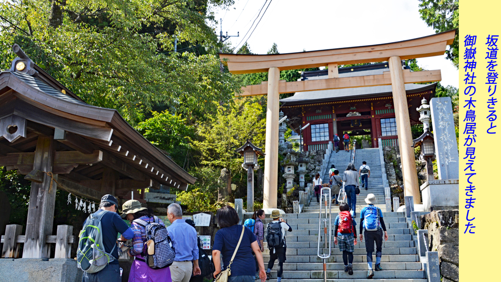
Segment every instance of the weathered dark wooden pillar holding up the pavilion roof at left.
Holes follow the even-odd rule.
[[[53,161],[53,137],[39,136],[33,169],[52,172]],[[54,179],[57,180],[57,174],[54,175]],[[56,190],[56,181],[51,182],[51,177],[46,173],[43,182],[32,182],[23,258],[42,258],[50,255],[46,236],[52,235]]]

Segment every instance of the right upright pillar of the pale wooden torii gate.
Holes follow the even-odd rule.
[[[393,56],[388,60],[388,64],[390,66],[391,89],[395,107],[395,120],[397,122],[404,191],[406,196],[414,197],[414,203],[421,203],[414,147],[412,146],[409,109],[407,106],[407,96],[405,94],[405,84],[402,73],[402,61],[399,56]]]

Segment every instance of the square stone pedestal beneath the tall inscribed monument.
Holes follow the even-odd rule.
[[[459,180],[428,180],[421,185],[425,211],[459,208]]]

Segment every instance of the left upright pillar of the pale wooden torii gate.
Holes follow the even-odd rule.
[[[279,80],[280,69],[268,70],[268,102],[266,109],[266,155],[263,208],[277,208],[279,169]]]

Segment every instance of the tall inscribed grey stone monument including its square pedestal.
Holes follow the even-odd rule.
[[[450,97],[432,98],[431,120],[438,180],[421,185],[424,211],[458,209],[459,207],[459,153],[457,151],[454,118]]]

